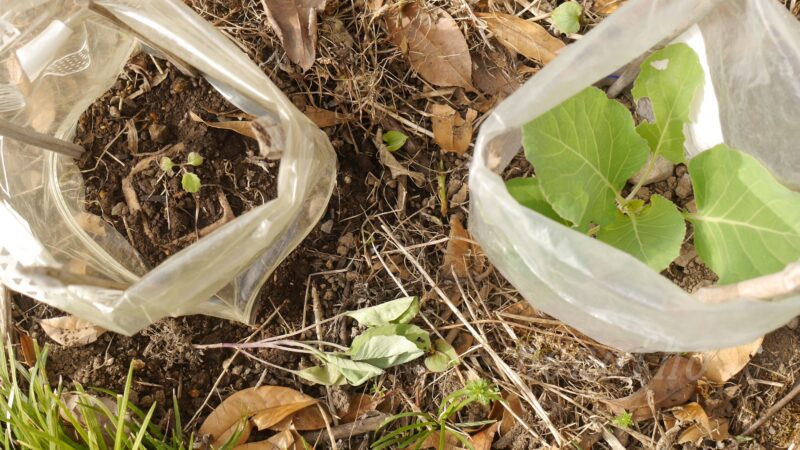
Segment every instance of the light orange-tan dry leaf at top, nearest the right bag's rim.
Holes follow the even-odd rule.
[[[564,48],[564,42],[537,23],[503,13],[477,13],[477,16],[501,44],[541,64],[552,61]]]

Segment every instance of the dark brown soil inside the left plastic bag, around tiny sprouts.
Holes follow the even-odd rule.
[[[209,122],[244,116],[202,78],[143,54],[127,67],[78,122],[76,141],[87,149],[79,166],[88,211],[113,224],[154,267],[195,242],[225,209],[238,216],[275,198],[278,166],[258,156],[255,140],[192,120],[190,112]],[[137,90],[145,92],[134,97]],[[160,168],[162,157],[181,164],[190,152],[203,163]],[[121,183],[137,164],[144,168],[131,180],[140,211]],[[182,189],[183,172],[199,176],[199,193]]]

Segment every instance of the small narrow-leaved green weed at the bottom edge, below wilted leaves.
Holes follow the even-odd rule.
[[[371,448],[372,450],[383,450],[385,448],[419,449],[426,445],[426,441],[433,440],[436,442],[437,449],[445,450],[449,448],[447,446],[447,438],[451,437],[458,440],[465,448],[474,450],[472,441],[463,430],[490,425],[495,421],[482,420],[479,422],[454,423],[452,419],[459,411],[474,403],[487,406],[491,402],[503,402],[497,386],[486,380],[468,381],[463,389],[451,393],[442,400],[436,414],[405,412],[395,414],[386,419],[379,430],[406,418],[413,418],[415,422],[410,425],[400,426],[384,434],[380,439],[372,443]]]

